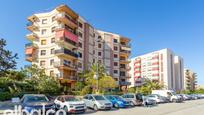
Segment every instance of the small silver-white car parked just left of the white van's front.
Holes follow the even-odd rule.
[[[167,103],[168,99],[158,94],[151,94],[147,96],[149,99],[155,100],[156,103]]]

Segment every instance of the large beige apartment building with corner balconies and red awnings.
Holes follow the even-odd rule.
[[[74,88],[78,74],[100,62],[120,86],[129,85],[128,38],[95,29],[67,5],[33,14],[28,21],[26,60],[44,68],[47,75]]]

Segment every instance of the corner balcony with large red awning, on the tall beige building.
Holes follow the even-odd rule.
[[[75,43],[78,43],[77,35],[68,31],[67,29],[65,29],[63,27],[59,27],[59,29],[56,30],[55,37],[56,38],[66,38],[66,39],[69,39]]]

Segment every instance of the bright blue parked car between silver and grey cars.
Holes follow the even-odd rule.
[[[123,98],[117,95],[105,95],[106,99],[108,99],[115,108],[125,108],[129,107],[130,103],[128,101],[125,101]]]

